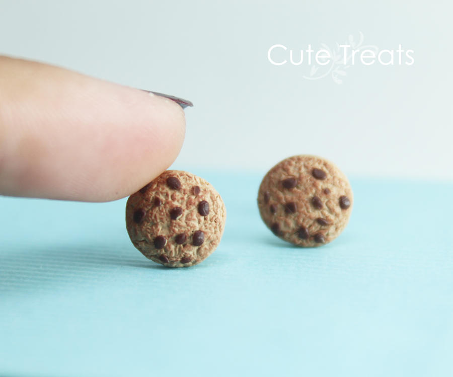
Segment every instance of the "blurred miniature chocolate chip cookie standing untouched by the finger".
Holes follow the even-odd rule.
[[[346,176],[316,156],[293,156],[275,165],[258,192],[261,218],[276,236],[294,245],[325,245],[346,228],[352,210]]]

